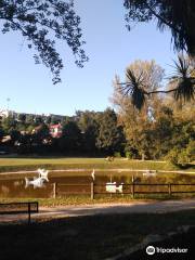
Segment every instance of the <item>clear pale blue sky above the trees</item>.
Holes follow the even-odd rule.
[[[84,50],[90,58],[83,68],[74,63],[64,42],[57,48],[64,60],[62,83],[53,86],[43,65],[35,65],[30,50],[18,32],[1,35],[0,109],[8,106],[21,113],[74,115],[75,110],[104,110],[112,106],[112,80],[123,78],[125,68],[134,60],[152,60],[167,72],[176,54],[170,32],[160,34],[155,24],[125,27],[122,1],[75,0],[81,17]]]

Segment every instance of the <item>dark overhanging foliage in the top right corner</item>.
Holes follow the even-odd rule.
[[[171,30],[174,49],[195,57],[195,3],[193,0],[125,0],[128,29],[131,22],[155,21],[161,31]]]

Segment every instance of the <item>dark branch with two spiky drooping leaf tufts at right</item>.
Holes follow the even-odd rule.
[[[134,67],[128,67],[126,70],[126,82],[120,82],[116,78],[116,84],[120,88],[123,95],[130,96],[132,104],[141,109],[146,101],[154,94],[174,93],[176,100],[192,101],[195,94],[195,67],[194,61],[185,56],[179,56],[174,62],[174,75],[170,78],[173,88],[169,90],[159,90],[153,88],[153,83],[147,80],[147,76],[140,70],[139,74]],[[152,75],[150,73],[150,75]]]

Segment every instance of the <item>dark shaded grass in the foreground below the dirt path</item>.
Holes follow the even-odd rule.
[[[100,260],[141,243],[195,224],[195,210],[173,213],[107,214],[0,225],[1,260]]]

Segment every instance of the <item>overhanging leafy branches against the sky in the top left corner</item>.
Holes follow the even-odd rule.
[[[34,48],[36,64],[42,63],[50,68],[53,83],[61,81],[60,72],[63,61],[55,48],[56,40],[65,40],[82,67],[88,60],[81,46],[80,17],[74,11],[74,3],[61,0],[0,0],[2,32],[20,31]]]

